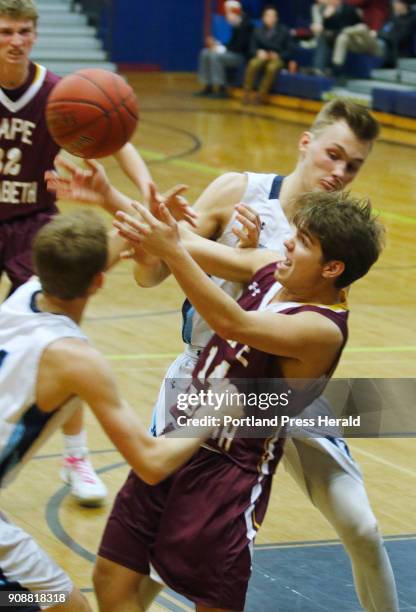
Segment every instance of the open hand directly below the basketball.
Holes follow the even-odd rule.
[[[111,189],[106,172],[95,160],[87,159],[84,163],[87,166],[85,169],[58,155],[54,162],[57,171],[45,172],[47,189],[59,199],[102,205]],[[69,177],[62,176],[60,172]]]

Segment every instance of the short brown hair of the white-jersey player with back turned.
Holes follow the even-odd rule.
[[[57,215],[37,234],[35,270],[43,291],[62,300],[85,297],[91,282],[105,269],[107,232],[94,213]]]

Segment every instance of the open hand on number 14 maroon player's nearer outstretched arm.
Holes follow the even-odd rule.
[[[117,211],[113,225],[132,246],[139,245],[150,255],[164,259],[178,248],[178,224],[162,202],[156,218],[143,204],[131,203],[137,215]]]

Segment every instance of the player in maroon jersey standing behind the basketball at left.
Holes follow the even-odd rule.
[[[43,175],[59,149],[44,115],[59,77],[29,60],[37,19],[32,0],[0,0],[0,275],[9,277],[10,293],[33,275],[32,240],[58,212]],[[116,158],[147,199],[151,176],[134,147],[127,143]],[[107,491],[87,457],[81,407],[63,432],[63,478],[80,503],[102,503]]]

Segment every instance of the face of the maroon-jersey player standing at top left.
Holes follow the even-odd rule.
[[[0,17],[0,65],[12,67],[25,64],[35,41],[33,21]]]

